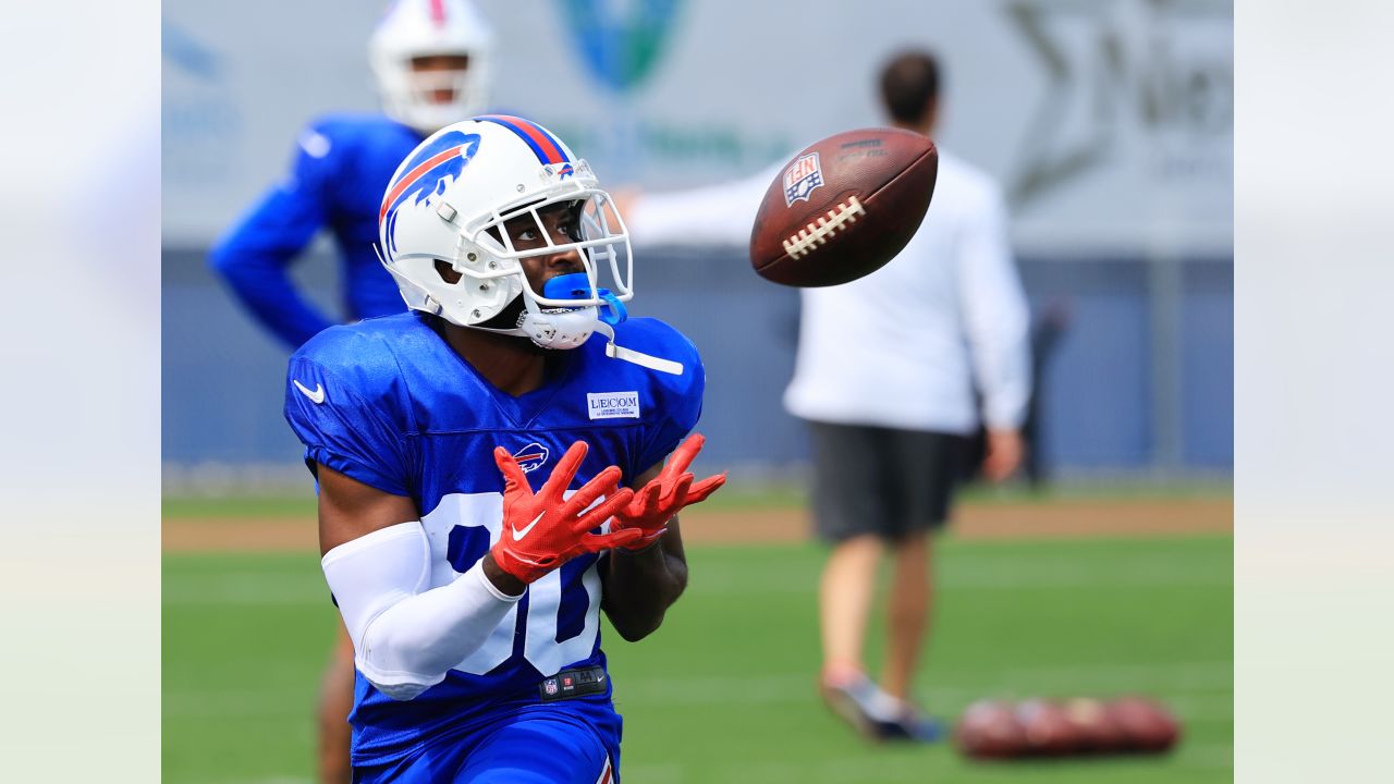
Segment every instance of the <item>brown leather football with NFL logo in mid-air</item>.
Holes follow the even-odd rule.
[[[938,166],[928,137],[896,128],[809,145],[760,202],[750,264],[785,286],[836,286],[875,272],[920,227]]]

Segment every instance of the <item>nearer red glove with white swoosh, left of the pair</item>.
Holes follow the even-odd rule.
[[[620,470],[615,466],[595,474],[570,498],[562,498],[587,451],[584,441],[572,444],[542,490],[534,495],[513,455],[502,446],[493,449],[493,462],[506,483],[503,530],[491,550],[500,569],[531,583],[577,555],[622,547],[644,536],[641,532],[590,533],[634,497],[633,490],[620,490]],[[602,495],[605,501],[587,509]]]

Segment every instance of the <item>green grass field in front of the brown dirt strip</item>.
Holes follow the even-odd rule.
[[[631,783],[1230,781],[1230,537],[944,540],[921,696],[1151,693],[1185,724],[1158,759],[970,763],[873,748],[817,700],[817,545],[694,547],[648,640],[609,633]],[[312,780],[314,698],[336,618],[305,555],[166,555],[164,780]],[[873,647],[873,657],[877,647]],[[873,658],[874,661],[874,658]]]

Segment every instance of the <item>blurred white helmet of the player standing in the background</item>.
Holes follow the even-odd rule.
[[[493,32],[470,0],[395,0],[368,40],[383,112],[424,134],[484,112],[492,49]],[[413,59],[432,54],[466,56],[468,67],[413,70]],[[453,99],[436,102],[438,89]]]

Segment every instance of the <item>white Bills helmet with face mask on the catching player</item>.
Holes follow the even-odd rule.
[[[577,211],[579,237],[556,243],[538,213]],[[531,218],[545,246],[519,250],[505,229]],[[682,365],[615,345],[612,326],[633,296],[633,254],[625,222],[595,173],[546,128],[487,114],[441,128],[397,167],[378,220],[381,258],[407,307],[452,324],[574,349],[594,332],[606,353],[665,372]],[[556,276],[534,292],[520,259],[576,251],[584,273]],[[460,275],[454,283],[436,261]],[[485,322],[523,297],[516,324]]]

